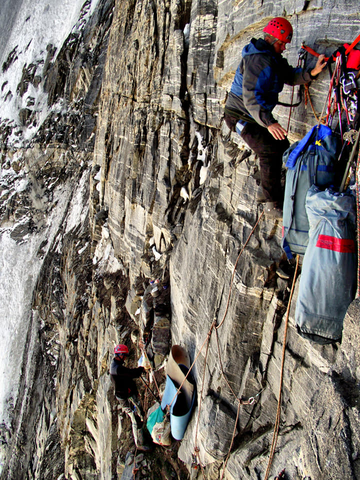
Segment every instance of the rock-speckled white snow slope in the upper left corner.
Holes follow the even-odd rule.
[[[98,0],[88,0],[87,5],[85,2],[85,14],[78,20],[84,5],[83,0],[22,0],[10,35],[6,39],[1,38],[6,42],[6,46],[0,64],[3,65],[10,52],[14,52],[7,69],[0,70],[0,121],[15,126],[9,144],[21,146],[24,140],[36,133],[49,113],[47,93],[43,89],[43,65],[48,53],[47,46],[56,48],[52,60],[54,61],[70,32],[83,28],[97,2]],[[41,78],[41,81],[37,86],[28,83],[27,90],[20,96],[17,91],[24,67],[31,68],[31,72]],[[57,108],[59,107],[58,104]],[[24,108],[37,112],[36,126],[26,128],[20,124],[19,112]]]

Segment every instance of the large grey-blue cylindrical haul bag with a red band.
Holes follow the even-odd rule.
[[[309,241],[303,257],[295,322],[319,343],[341,338],[346,310],[356,293],[356,204],[347,190],[311,186],[306,196]]]

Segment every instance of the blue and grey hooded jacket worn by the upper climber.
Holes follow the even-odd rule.
[[[262,38],[242,49],[242,58],[228,94],[225,113],[267,127],[277,120],[272,110],[284,83],[299,85],[314,77],[309,71],[294,68]]]

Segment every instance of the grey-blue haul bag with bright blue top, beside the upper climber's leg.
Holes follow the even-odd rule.
[[[312,184],[322,189],[334,182],[337,140],[330,127],[313,126],[283,154],[287,167],[282,217],[282,242],[288,259],[303,255],[308,242],[309,223],[305,210],[307,190]]]

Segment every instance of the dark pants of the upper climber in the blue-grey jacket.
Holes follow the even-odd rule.
[[[236,119],[225,115],[224,120],[234,131]],[[276,140],[267,128],[258,123],[246,123],[241,131],[241,137],[259,158],[260,180],[266,201],[276,201],[282,206],[282,155],[290,146],[288,139]]]

